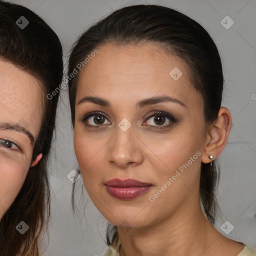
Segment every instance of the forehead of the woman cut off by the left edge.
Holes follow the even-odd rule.
[[[42,117],[39,81],[15,65],[0,60],[1,122],[20,122],[37,136]]]

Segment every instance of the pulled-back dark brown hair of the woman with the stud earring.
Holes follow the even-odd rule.
[[[188,16],[159,5],[132,5],[118,9],[92,25],[75,42],[69,57],[68,72],[95,47],[106,43],[155,43],[178,56],[189,67],[190,81],[204,103],[204,119],[210,124],[217,119],[222,100],[223,74],[218,50],[207,31]],[[78,74],[70,79],[69,101],[74,124],[75,94]],[[208,220],[213,224],[218,205],[215,190],[219,166],[201,163],[200,200]],[[74,200],[72,200],[74,205]],[[73,207],[74,208],[74,207]],[[115,226],[107,230],[107,243]]]

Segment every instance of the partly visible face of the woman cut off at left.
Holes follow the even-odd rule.
[[[0,219],[10,207],[31,165],[42,108],[37,79],[0,60]]]

